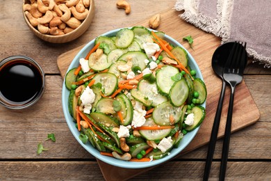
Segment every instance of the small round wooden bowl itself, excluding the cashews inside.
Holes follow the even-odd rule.
[[[29,0],[23,0],[23,5],[24,3],[28,3],[28,1]],[[23,9],[23,15],[24,15],[24,20],[26,21],[26,24],[28,25],[29,29],[33,31],[35,36],[38,36],[38,38],[41,38],[42,40],[47,41],[47,42],[65,43],[65,42],[70,42],[72,40],[75,40],[76,38],[79,38],[79,36],[81,36],[83,33],[85,33],[85,31],[90,26],[92,19],[95,15],[95,4],[94,4],[94,0],[90,0],[88,16],[83,20],[82,24],[78,28],[74,29],[73,31],[64,35],[60,35],[60,36],[52,36],[52,35],[40,33],[40,31],[38,31],[38,29],[33,27],[28,21],[24,13],[24,9]]]

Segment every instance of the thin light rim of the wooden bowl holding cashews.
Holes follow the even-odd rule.
[[[26,0],[23,0],[23,6],[24,6],[24,3],[25,3]],[[67,38],[68,36],[71,36],[73,35],[74,33],[76,33],[77,31],[79,31],[79,28],[83,27],[83,25],[85,24],[91,24],[92,22],[92,18],[94,15],[92,15],[92,13],[95,13],[95,3],[94,3],[94,0],[90,0],[90,7],[88,8],[88,15],[87,17],[85,17],[85,19],[83,19],[83,22],[82,24],[80,24],[80,26],[77,28],[77,29],[74,29],[73,31],[69,32],[69,33],[66,33],[64,35],[60,35],[60,36],[52,36],[52,35],[48,35],[48,34],[43,34],[43,33],[40,33],[40,31],[38,31],[38,29],[35,29],[35,27],[32,26],[32,24],[28,21],[28,18],[26,17],[25,13],[24,13],[24,9],[22,8],[22,13],[24,15],[24,20],[26,22],[26,24],[29,26],[29,28],[34,31],[35,33],[37,33],[38,35],[40,36],[43,36],[44,38]],[[90,19],[88,19],[89,17],[91,16],[91,21]],[[88,20],[88,21],[85,21],[85,20]],[[87,28],[85,29],[85,31],[87,30]],[[83,34],[83,32],[82,32]]]

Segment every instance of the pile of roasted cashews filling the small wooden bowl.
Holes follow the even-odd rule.
[[[90,0],[31,0],[24,13],[42,34],[63,35],[78,28],[88,16]]]

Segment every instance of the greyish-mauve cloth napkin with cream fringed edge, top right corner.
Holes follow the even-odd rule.
[[[177,0],[187,22],[229,41],[247,42],[247,53],[271,68],[270,0]]]

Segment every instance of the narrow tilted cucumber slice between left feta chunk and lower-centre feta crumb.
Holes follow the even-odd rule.
[[[112,118],[110,116],[107,116],[105,113],[90,113],[90,117],[95,120],[97,123],[102,123],[106,125],[107,127],[119,127],[120,123],[115,118]]]

